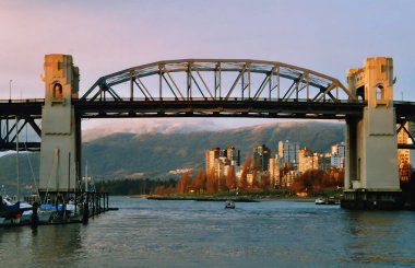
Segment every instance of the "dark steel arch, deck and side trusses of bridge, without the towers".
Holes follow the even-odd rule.
[[[44,104],[43,98],[0,101],[0,150],[15,148],[16,116],[19,132],[31,128],[40,137]],[[345,119],[361,117],[366,106],[335,78],[293,65],[252,59],[181,59],[142,65],[99,78],[84,95],[72,98],[72,104],[80,118]],[[415,105],[395,102],[394,106],[400,131],[405,121],[415,119]],[[25,144],[28,150],[39,147],[39,142]]]

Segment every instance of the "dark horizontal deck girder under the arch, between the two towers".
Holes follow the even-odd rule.
[[[134,100],[133,102],[85,102],[74,101],[76,109],[84,118],[107,117],[261,117],[261,118],[309,118],[345,119],[346,116],[360,117],[365,103],[313,103],[298,101],[206,101],[197,98],[178,101]]]

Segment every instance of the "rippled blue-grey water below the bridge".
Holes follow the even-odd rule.
[[[87,225],[0,229],[0,267],[414,267],[415,212],[110,199]]]

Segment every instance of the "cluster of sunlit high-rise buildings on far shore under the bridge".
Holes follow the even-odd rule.
[[[251,154],[245,156],[245,160],[240,160],[240,151],[234,145],[208,149],[204,158],[206,179],[217,182],[218,189],[229,179],[235,182],[235,187],[252,187],[256,183],[274,188],[290,187],[295,179],[307,172],[341,174],[345,167],[346,155],[343,141],[332,144],[327,152],[316,152],[310,151],[308,145],[300,148],[298,141],[284,140],[278,141],[275,149],[268,148],[264,143],[256,145]],[[191,168],[187,171],[178,173],[181,174],[180,179],[195,175],[191,173]],[[201,171],[194,172],[200,176]],[[246,183],[242,183],[244,179]]]

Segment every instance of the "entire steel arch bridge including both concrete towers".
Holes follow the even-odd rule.
[[[394,131],[405,131],[413,143],[404,148],[415,148],[405,129],[415,119],[415,103],[393,101],[392,58],[369,57],[364,67],[348,69],[347,89],[332,77],[275,61],[158,61],[102,77],[81,97],[72,56],[46,55],[44,68],[45,100],[0,101],[0,150],[21,148],[23,128],[40,135],[40,193],[81,189],[82,118],[317,118],[346,123],[342,207],[403,207],[395,161],[402,144]]]

